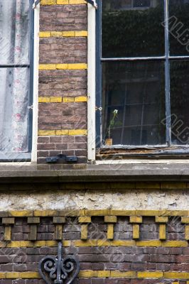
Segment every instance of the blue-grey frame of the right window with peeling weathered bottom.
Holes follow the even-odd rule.
[[[102,58],[102,1],[97,0],[98,9],[96,11],[96,148],[97,158],[104,157],[151,157],[161,156],[164,158],[189,158],[189,144],[173,145],[171,144],[171,97],[170,97],[170,62],[173,60],[189,60],[189,55],[173,56],[169,52],[169,11],[168,0],[164,2],[164,19],[165,19],[165,56],[151,56],[141,58]],[[106,1],[106,0],[104,0]],[[132,62],[132,61],[149,61],[163,60],[165,62],[165,89],[166,89],[166,146],[103,146],[102,145],[102,113],[99,108],[102,107],[102,62]]]

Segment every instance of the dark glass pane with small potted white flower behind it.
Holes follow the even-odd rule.
[[[104,141],[166,143],[164,62],[103,62],[102,82]]]

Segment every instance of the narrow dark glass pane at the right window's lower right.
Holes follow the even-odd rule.
[[[171,137],[176,145],[189,144],[189,61],[171,62]]]

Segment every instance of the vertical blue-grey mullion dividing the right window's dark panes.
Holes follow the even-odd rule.
[[[171,146],[171,101],[170,101],[170,65],[169,65],[169,26],[168,0],[164,0],[165,19],[165,89],[166,89],[166,142]]]

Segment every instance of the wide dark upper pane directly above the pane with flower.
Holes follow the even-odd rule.
[[[161,56],[163,0],[103,0],[102,57]]]

